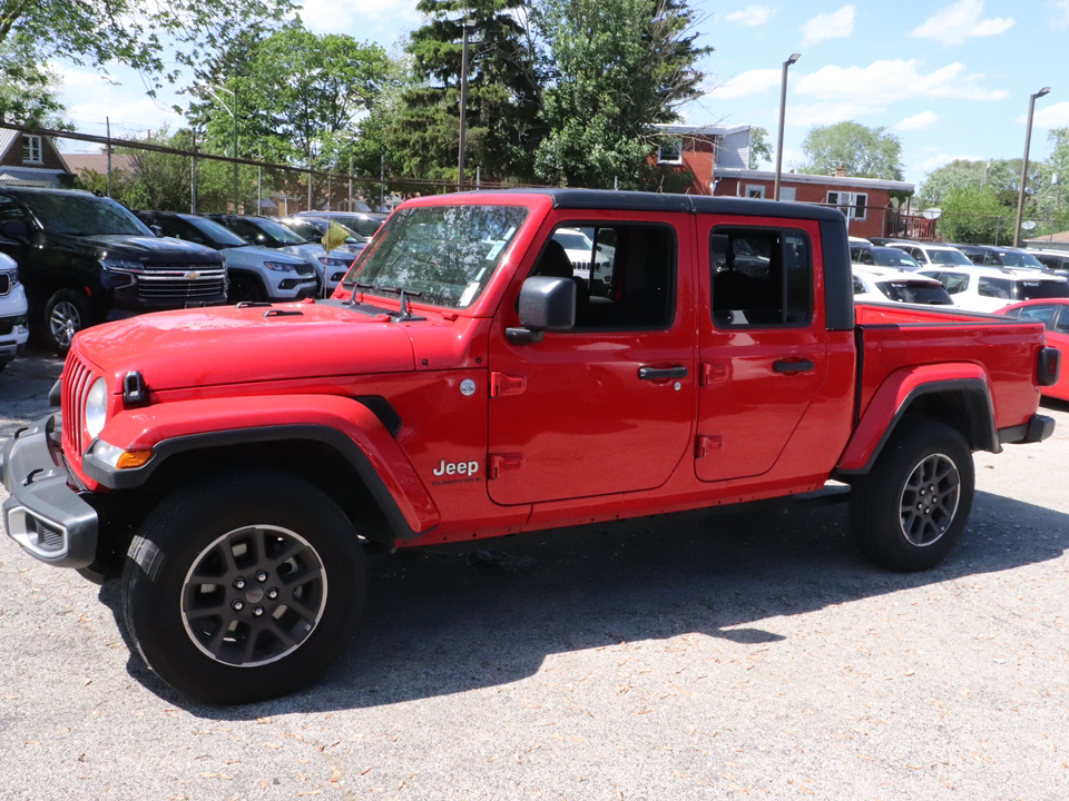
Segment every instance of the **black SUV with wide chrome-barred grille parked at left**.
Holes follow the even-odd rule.
[[[161,239],[89,192],[0,187],[0,253],[19,265],[30,324],[57,353],[109,317],[226,303],[217,251]]]

